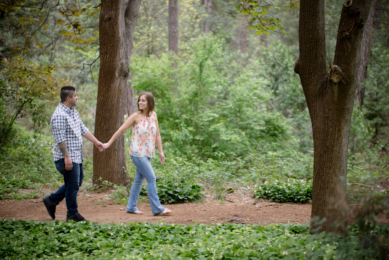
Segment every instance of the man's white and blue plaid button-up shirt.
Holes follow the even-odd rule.
[[[54,136],[54,161],[63,158],[58,143],[66,141],[70,159],[74,163],[82,163],[82,136],[88,128],[81,122],[77,110],[68,108],[60,102],[51,117],[51,130]]]

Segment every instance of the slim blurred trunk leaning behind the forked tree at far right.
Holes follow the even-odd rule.
[[[371,1],[370,13],[367,18],[366,24],[363,30],[362,43],[361,43],[361,64],[359,64],[358,70],[358,84],[355,93],[355,100],[359,102],[359,107],[362,109],[364,88],[362,87],[363,81],[367,76],[367,61],[370,53],[371,45],[371,31],[373,28],[373,16],[374,16],[374,0]]]

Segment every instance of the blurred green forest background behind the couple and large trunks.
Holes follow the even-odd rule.
[[[77,110],[94,130],[99,4],[11,2],[1,3],[1,161],[45,167],[53,149],[49,120],[61,86],[77,88]],[[277,4],[283,8],[282,1]],[[375,171],[388,168],[386,4],[375,9],[363,102],[355,103],[349,138],[353,163],[364,161]],[[331,64],[341,6],[326,1],[326,10]],[[142,90],[154,94],[168,157],[194,155],[206,161],[216,159],[218,152],[231,152],[230,159],[247,159],[266,144],[268,150],[290,157],[312,158],[310,116],[293,71],[299,9],[268,12],[286,21],[286,34],[272,27],[270,34],[257,35],[255,28],[248,28],[250,17],[239,14],[236,1],[180,1],[175,55],[168,51],[168,2],[142,2],[124,111],[126,116],[136,111]],[[130,136],[127,131],[125,147]],[[84,146],[88,164],[93,147],[89,142]]]

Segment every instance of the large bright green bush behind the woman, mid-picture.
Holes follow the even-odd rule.
[[[212,35],[191,41],[191,50],[187,58],[175,58],[177,69],[169,55],[131,62],[133,88],[155,94],[166,150],[207,159],[231,150],[246,156],[263,143],[297,149],[288,120],[266,106],[272,94],[262,87],[267,81],[257,78],[256,62],[237,73],[234,56]]]

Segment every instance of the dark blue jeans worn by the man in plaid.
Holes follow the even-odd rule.
[[[84,170],[82,163],[73,163],[73,168],[70,171],[65,170],[65,159],[62,158],[55,161],[55,167],[58,172],[63,175],[63,184],[56,193],[51,193],[51,202],[58,205],[63,198],[65,198],[67,213],[69,215],[77,214],[77,193],[81,187],[82,180],[84,180]]]

